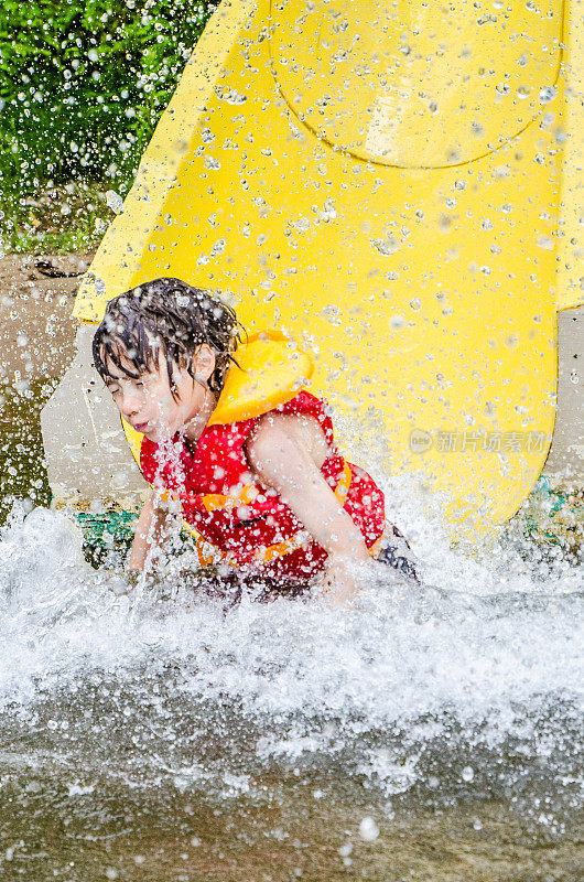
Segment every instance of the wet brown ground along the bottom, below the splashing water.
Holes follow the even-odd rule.
[[[448,880],[551,882],[581,879],[582,850],[541,836],[496,800],[443,813],[375,811],[334,788],[315,799],[281,781],[279,799],[206,805],[180,793],[144,793],[54,778],[37,767],[12,774],[2,818],[7,880]],[[102,785],[101,785],[102,786]],[[85,792],[84,792],[85,790]],[[301,790],[299,793],[299,790]],[[291,811],[292,808],[292,811]]]

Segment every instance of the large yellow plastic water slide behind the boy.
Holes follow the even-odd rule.
[[[345,447],[440,492],[455,538],[496,528],[545,462],[556,311],[583,300],[573,21],[224,0],[75,315],[160,276],[220,291],[313,355]]]

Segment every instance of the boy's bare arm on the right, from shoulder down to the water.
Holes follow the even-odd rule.
[[[309,533],[328,552],[333,588],[346,587],[350,561],[369,560],[363,534],[320,471],[328,455],[322,428],[311,417],[269,415],[249,438],[246,451],[260,481],[278,492]],[[338,573],[343,571],[342,576]],[[350,580],[349,580],[350,581]],[[353,593],[353,589],[348,590]]]

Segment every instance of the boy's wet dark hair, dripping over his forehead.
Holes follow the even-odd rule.
[[[174,366],[186,367],[195,378],[193,357],[206,343],[216,361],[208,385],[220,392],[227,368],[237,364],[241,332],[235,311],[214,294],[180,279],[154,279],[109,301],[94,335],[94,364],[104,380],[113,379],[111,365],[138,379],[160,368],[163,356],[176,399]]]

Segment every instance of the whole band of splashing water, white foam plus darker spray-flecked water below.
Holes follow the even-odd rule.
[[[245,594],[224,613],[172,571],[170,601],[136,604],[119,572],[84,561],[64,516],[14,514],[0,542],[2,741],[202,799],[253,802],[293,774],[386,806],[489,794],[561,825],[582,795],[581,573],[538,580],[502,549],[469,561],[418,527],[422,588],[371,564],[352,610]]]

